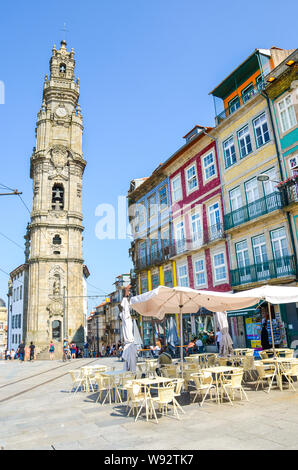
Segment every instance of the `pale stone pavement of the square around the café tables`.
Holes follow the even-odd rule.
[[[86,360],[73,360],[78,367]],[[117,359],[98,359],[122,369]],[[125,406],[95,403],[93,393],[70,393],[69,374],[1,403],[6,383],[61,366],[61,361],[19,363],[0,361],[0,448],[2,449],[298,449],[298,392],[245,387],[249,402],[218,405],[206,401],[185,405],[180,421],[162,417],[159,423],[136,423]],[[57,376],[63,368],[57,369]],[[51,373],[55,376],[54,371]],[[41,375],[40,382],[49,378]],[[31,384],[32,382],[30,382]],[[29,381],[27,383],[29,388]],[[296,384],[297,389],[298,385]],[[9,388],[25,389],[25,382]],[[8,391],[5,392],[6,396]]]

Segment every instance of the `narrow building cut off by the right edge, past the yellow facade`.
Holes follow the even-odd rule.
[[[266,95],[276,131],[281,181],[278,188],[283,195],[297,269],[298,252],[298,51],[295,50],[270,74]],[[296,272],[297,273],[297,272]],[[296,274],[297,285],[297,274]],[[298,345],[298,315],[294,304],[282,305],[288,343]]]

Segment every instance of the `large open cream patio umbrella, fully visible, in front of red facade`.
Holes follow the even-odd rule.
[[[237,310],[254,305],[251,298],[235,298],[234,294],[195,290],[189,287],[165,287],[137,295],[130,299],[134,310],[143,316],[155,317],[162,320],[166,313],[180,315],[180,358],[183,367],[183,328],[182,314],[197,312],[200,307],[205,307],[212,312]]]

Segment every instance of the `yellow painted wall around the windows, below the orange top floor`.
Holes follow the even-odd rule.
[[[264,115],[268,125],[270,140],[260,147],[257,146],[256,133],[254,128],[254,120],[259,116]],[[240,155],[240,143],[239,143],[239,131],[245,126],[248,126],[248,132],[250,135],[250,141],[252,151],[245,157],[241,158]],[[230,214],[235,211],[235,207],[232,206],[231,202],[231,191],[235,190],[238,193],[238,197],[241,198],[241,205],[236,208],[236,211],[241,208],[248,207],[247,198],[247,184],[253,181],[256,188],[255,192],[258,194],[254,201],[258,204],[258,200],[264,199],[268,192],[265,191],[264,183],[258,181],[256,178],[262,174],[271,171],[274,174],[274,180],[280,181],[279,163],[277,159],[277,152],[274,143],[273,129],[271,126],[270,115],[267,107],[266,99],[257,94],[253,96],[247,103],[237,109],[233,114],[224,119],[213,132],[214,137],[217,138],[218,154],[219,154],[219,165],[221,172],[221,183],[222,183],[222,194],[224,200],[225,214]],[[233,137],[236,162],[230,167],[226,168],[225,153],[224,153],[224,142]],[[274,185],[271,186],[271,191],[276,191]],[[268,190],[267,190],[268,191]],[[239,202],[237,202],[239,204]],[[261,204],[261,202],[259,202]],[[263,204],[263,202],[262,202]],[[253,207],[250,204],[250,207]],[[246,209],[249,210],[249,209]],[[234,212],[235,213],[235,212]],[[245,212],[243,212],[245,213]],[[229,219],[229,220],[233,220]],[[233,225],[233,224],[232,224]],[[291,239],[289,233],[289,227],[287,223],[286,212],[278,208],[276,210],[270,210],[267,213],[262,213],[260,216],[245,220],[243,223],[235,224],[235,226],[226,229],[227,240],[229,245],[230,254],[230,266],[231,271],[239,268],[239,259],[237,257],[236,245],[241,242],[245,243],[246,254],[249,258],[249,264],[255,264],[256,253],[253,249],[254,237],[263,236],[266,243],[267,257],[269,260],[274,258],[271,233],[274,230],[282,229],[286,234],[287,246],[289,254],[292,255]],[[239,246],[239,245],[238,245]],[[247,261],[246,261],[247,262]],[[283,276],[278,279],[266,279],[266,283],[292,283],[294,276]],[[247,289],[250,287],[257,287],[257,285],[264,284],[263,281],[257,282],[245,282],[238,285],[232,285],[234,290]]]

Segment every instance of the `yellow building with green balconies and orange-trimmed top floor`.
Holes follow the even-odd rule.
[[[291,53],[257,49],[211,92],[224,109],[218,113],[216,108],[212,135],[218,145],[234,291],[263,284],[296,285],[296,247],[287,202],[278,188],[282,161],[266,94],[272,71]],[[260,346],[257,313],[252,309],[231,314],[234,343]],[[275,315],[285,344],[286,316],[280,306]],[[252,334],[254,324],[258,333]]]

